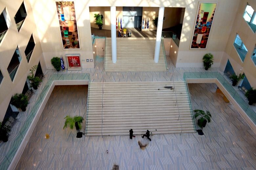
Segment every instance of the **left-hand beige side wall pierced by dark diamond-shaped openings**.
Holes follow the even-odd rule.
[[[29,0],[24,0],[24,5],[27,10],[27,17],[20,31],[18,32],[17,30],[14,16],[22,2],[23,0],[15,0],[15,3],[13,3],[12,1],[1,1],[0,3],[0,12],[2,12],[4,8],[6,8],[7,14],[11,19],[11,26],[6,32],[4,39],[0,43],[0,69],[4,76],[0,85],[0,121],[2,121],[5,116],[7,107],[11,100],[11,96],[14,93],[22,92],[29,73],[29,69],[33,65],[38,64],[39,60],[41,61],[40,64],[42,66],[43,72],[45,72],[44,68],[46,68],[44,64],[44,59],[42,57],[42,49]],[[31,59],[28,63],[24,51],[32,33],[35,47]],[[19,48],[22,60],[12,82],[7,71],[7,67],[17,46]]]

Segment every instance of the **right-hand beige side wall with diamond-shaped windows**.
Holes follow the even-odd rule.
[[[227,59],[229,59],[235,73],[240,73],[240,69],[243,68],[243,71],[245,72],[245,75],[249,83],[251,84],[252,87],[256,88],[256,66],[254,65],[251,59],[252,52],[256,44],[256,34],[251,30],[251,28],[243,18],[247,2],[251,5],[251,7],[254,10],[256,10],[255,0],[241,0],[241,2],[239,3],[240,7],[235,14],[236,20],[228,37],[222,65],[226,66]],[[240,59],[233,45],[237,33],[248,50],[244,62],[242,62],[242,60]],[[225,67],[223,67],[223,70],[224,68]]]

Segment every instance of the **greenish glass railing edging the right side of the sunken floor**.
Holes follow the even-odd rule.
[[[245,111],[248,117],[256,124],[256,113],[253,111],[248,102],[244,100],[238,90],[235,90],[229,80],[226,80],[219,72],[190,72],[184,73],[183,79],[187,78],[216,78],[224,86],[226,91],[234,98],[238,105]]]

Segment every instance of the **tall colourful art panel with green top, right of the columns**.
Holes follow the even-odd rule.
[[[199,3],[190,49],[206,49],[217,3]]]

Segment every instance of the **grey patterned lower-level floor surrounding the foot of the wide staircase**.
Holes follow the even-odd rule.
[[[152,142],[139,135],[130,140],[129,132],[75,138],[75,130],[62,129],[63,117],[85,109],[86,92],[84,87],[68,89],[72,90],[63,86],[54,89],[16,169],[109,170],[115,163],[120,169],[136,170],[256,169],[255,134],[232,104],[224,103],[215,93],[214,84],[189,84],[193,109],[212,114],[212,122],[203,129],[205,135],[153,135]],[[44,138],[46,132],[49,139]],[[148,144],[145,150],[139,148],[138,140]]]

